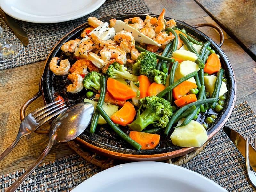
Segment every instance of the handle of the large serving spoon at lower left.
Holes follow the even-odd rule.
[[[56,143],[55,137],[50,138],[47,147],[44,149],[44,152],[38,157],[36,162],[23,174],[18,180],[16,180],[5,192],[14,192],[16,189],[28,178],[28,176],[36,169],[36,167],[44,160],[52,146]]]

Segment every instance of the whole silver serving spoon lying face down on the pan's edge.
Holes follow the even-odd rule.
[[[52,146],[56,143],[67,142],[75,139],[84,132],[92,119],[94,107],[91,103],[78,103],[62,112],[52,122],[50,140],[44,152],[38,157],[36,162],[5,192],[14,192],[24,180],[36,169],[44,160]]]

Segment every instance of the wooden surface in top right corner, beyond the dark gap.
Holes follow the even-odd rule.
[[[195,0],[256,60],[255,0]]]

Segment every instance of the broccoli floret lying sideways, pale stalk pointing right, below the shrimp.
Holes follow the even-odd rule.
[[[106,72],[107,76],[110,78],[124,78],[130,81],[138,81],[138,76],[132,75],[127,71],[127,68],[124,65],[121,65],[117,62],[109,65]]]

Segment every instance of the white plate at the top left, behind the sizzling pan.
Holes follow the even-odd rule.
[[[83,17],[105,0],[1,0],[8,15],[32,23],[58,23]]]

